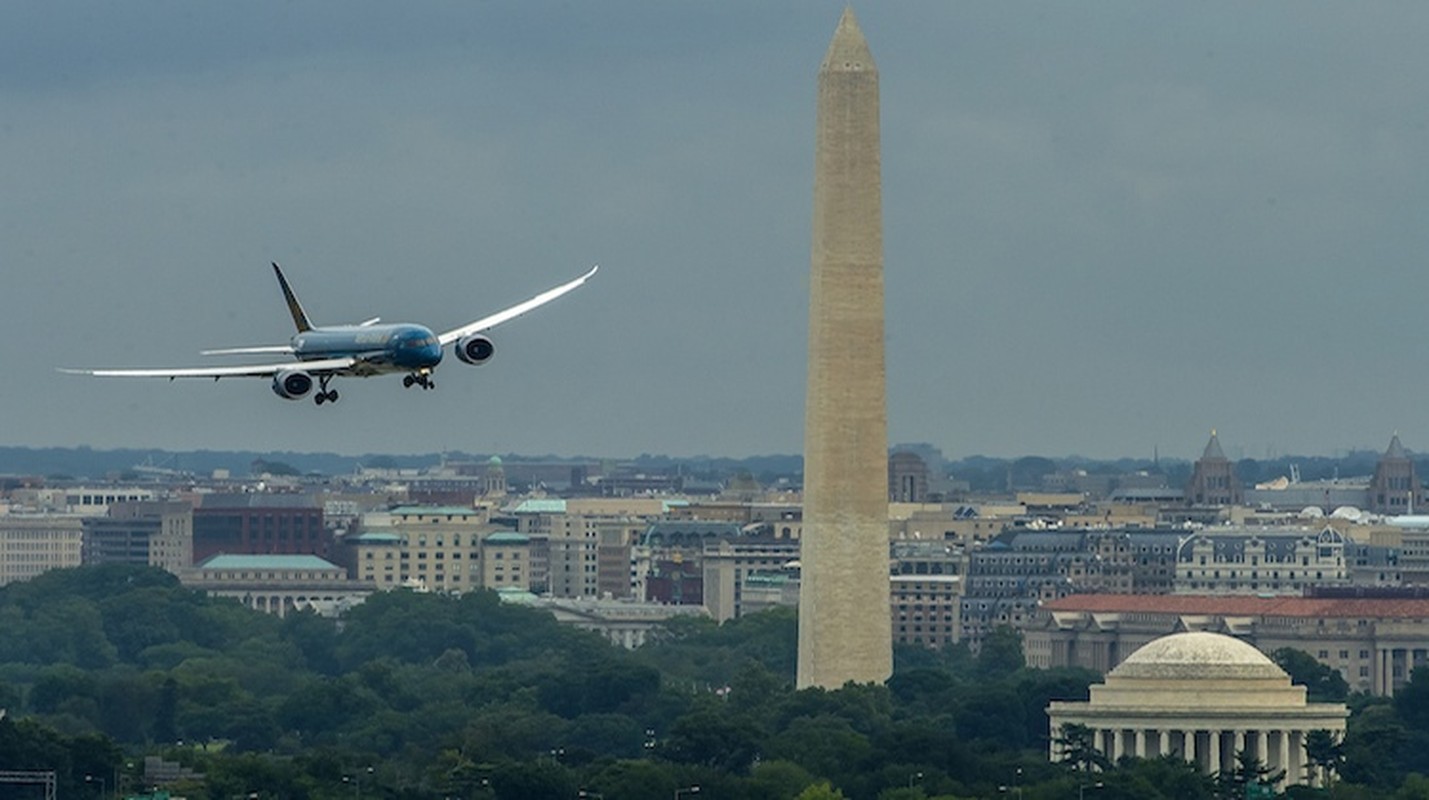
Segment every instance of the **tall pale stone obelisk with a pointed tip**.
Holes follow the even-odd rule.
[[[893,673],[880,183],[879,71],[849,9],[819,67],[800,689]]]

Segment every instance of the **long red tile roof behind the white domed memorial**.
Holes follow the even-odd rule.
[[[1218,614],[1228,617],[1429,619],[1420,597],[1259,597],[1226,594],[1069,594],[1046,611]]]

